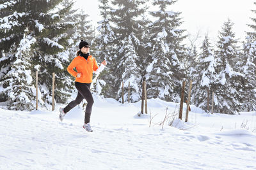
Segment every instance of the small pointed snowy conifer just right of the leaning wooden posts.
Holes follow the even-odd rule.
[[[198,71],[196,77],[198,77],[198,79],[196,81],[197,88],[194,92],[196,92],[196,106],[200,106],[207,111],[207,90],[209,89],[211,92],[217,74],[215,70],[216,61],[208,36],[205,36],[200,49],[202,53],[199,55],[198,64],[196,66]]]

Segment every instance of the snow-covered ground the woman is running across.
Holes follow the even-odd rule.
[[[0,109],[0,169],[256,169],[255,112],[209,115],[191,106],[185,124],[178,103],[150,99],[148,112],[157,115],[149,127],[150,113],[137,115],[140,102],[94,99],[93,132],[84,131],[79,107],[63,122],[60,104],[56,111]]]

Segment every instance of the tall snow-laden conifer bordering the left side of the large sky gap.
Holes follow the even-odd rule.
[[[147,67],[148,97],[159,97],[167,101],[179,101],[180,85],[184,78],[182,63],[185,48],[181,41],[185,31],[177,29],[182,22],[179,12],[166,11],[176,1],[153,1],[159,11],[150,12],[157,18],[150,26],[150,53]]]

